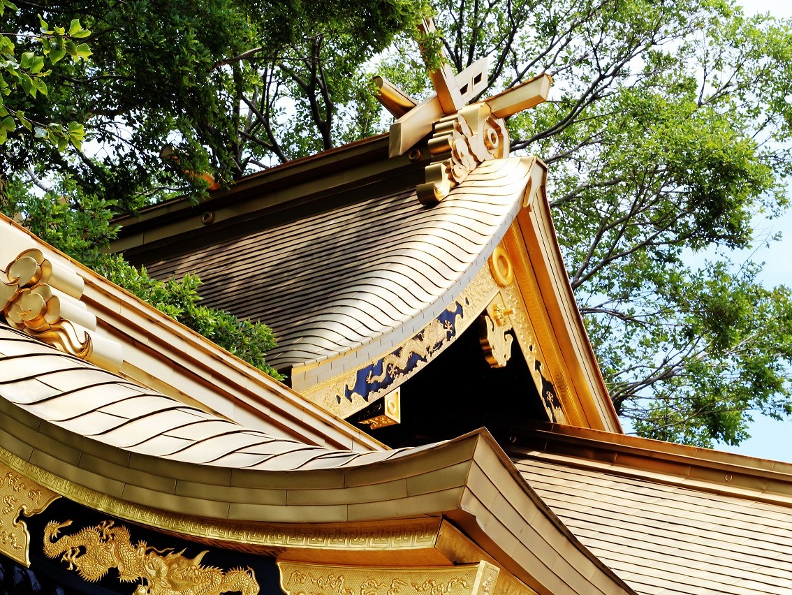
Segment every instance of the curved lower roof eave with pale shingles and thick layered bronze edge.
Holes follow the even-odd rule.
[[[55,493],[120,517],[130,505],[253,523],[450,514],[483,531],[482,540],[505,551],[518,575],[534,559],[527,571],[540,583],[586,585],[558,592],[632,593],[558,521],[483,429],[386,452],[319,448],[147,391],[6,326],[0,397],[0,459],[23,473],[19,467],[31,467]],[[536,561],[531,548],[539,538],[567,543],[565,555]],[[590,590],[592,575],[607,587]]]

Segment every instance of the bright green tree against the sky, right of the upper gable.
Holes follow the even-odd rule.
[[[458,71],[489,56],[482,95],[556,81],[551,101],[509,120],[512,150],[550,165],[569,280],[619,414],[704,445],[741,441],[757,412],[790,414],[790,291],[729,261],[756,241],[752,216],[786,208],[790,23],[728,0],[436,9]],[[687,265],[704,250],[721,260]]]

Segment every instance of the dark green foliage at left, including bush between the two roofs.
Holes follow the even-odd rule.
[[[2,212],[22,216],[36,235],[280,378],[265,363],[275,345],[267,326],[200,306],[195,276],[162,282],[103,254],[116,233],[112,215],[175,193],[201,196],[204,173],[230,181],[249,163],[262,167],[273,155],[286,159],[327,146],[329,136],[314,143],[299,129],[297,135],[277,130],[283,140],[261,135],[257,110],[274,116],[285,109],[283,101],[299,103],[304,95],[320,132],[324,123],[329,130],[345,101],[341,90],[353,88],[341,81],[416,21],[420,6],[409,0],[18,4],[0,0]],[[50,26],[44,18],[70,26]],[[90,48],[82,41],[88,36]],[[325,65],[331,59],[333,69]],[[303,85],[304,93],[282,100],[273,71]],[[276,90],[274,99],[262,95],[262,81]],[[83,150],[86,135],[92,151]],[[166,143],[173,148],[162,159]],[[291,147],[296,144],[303,148]],[[31,184],[40,192],[31,193]]]

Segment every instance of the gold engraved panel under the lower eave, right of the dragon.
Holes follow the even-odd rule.
[[[493,564],[372,568],[278,562],[287,595],[491,595],[501,570]]]

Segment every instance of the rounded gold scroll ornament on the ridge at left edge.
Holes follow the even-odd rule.
[[[116,372],[121,347],[94,332],[97,319],[79,301],[83,289],[82,277],[32,248],[0,272],[0,309],[13,328]]]

